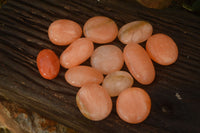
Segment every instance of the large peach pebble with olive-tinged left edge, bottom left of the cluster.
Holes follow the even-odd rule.
[[[105,119],[112,110],[112,100],[108,92],[95,83],[85,84],[79,89],[76,103],[80,112],[93,121]]]

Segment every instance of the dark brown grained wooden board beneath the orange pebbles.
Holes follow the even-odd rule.
[[[151,113],[141,124],[127,124],[119,119],[116,98],[113,111],[105,120],[93,122],[84,118],[75,102],[78,88],[64,80],[66,70],[62,68],[51,81],[43,79],[37,70],[35,60],[40,50],[49,48],[60,55],[66,48],[49,41],[47,29],[51,22],[66,18],[83,26],[96,15],[112,18],[119,27],[134,20],[149,21],[154,33],[165,33],[178,45],[175,64],[154,63],[155,81],[148,86],[134,84],[144,88],[152,99]],[[124,47],[118,39],[113,44]],[[9,0],[0,9],[0,95],[79,132],[198,133],[199,50],[200,17],[183,9],[147,9],[130,0]],[[89,65],[89,60],[84,64]]]

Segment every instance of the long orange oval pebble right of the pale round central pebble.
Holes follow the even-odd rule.
[[[125,64],[132,76],[141,84],[148,85],[155,79],[155,68],[145,51],[139,44],[133,43],[125,46]]]

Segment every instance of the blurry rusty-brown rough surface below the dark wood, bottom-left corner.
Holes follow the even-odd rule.
[[[27,112],[14,102],[0,98],[0,133],[14,133],[13,131],[19,133],[77,133],[31,110]]]

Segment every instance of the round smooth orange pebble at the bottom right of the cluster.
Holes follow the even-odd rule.
[[[141,123],[149,116],[151,110],[150,96],[138,87],[125,89],[117,98],[116,110],[119,117],[125,122]]]

